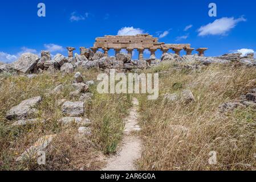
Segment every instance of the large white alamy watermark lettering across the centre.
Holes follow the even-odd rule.
[[[101,81],[97,85],[100,94],[149,94],[148,100],[159,97],[159,74],[155,73],[116,73],[111,69],[109,75],[101,73],[97,76]]]

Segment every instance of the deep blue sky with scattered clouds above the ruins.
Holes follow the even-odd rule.
[[[46,17],[37,15],[40,2],[46,5]],[[217,5],[217,17],[208,15],[211,2]],[[23,52],[38,54],[43,49],[67,55],[67,46],[79,52],[81,46],[92,47],[96,37],[118,32],[142,32],[159,37],[160,42],[208,47],[206,56],[238,49],[252,52],[256,50],[255,5],[254,0],[2,1],[0,61],[11,62]]]

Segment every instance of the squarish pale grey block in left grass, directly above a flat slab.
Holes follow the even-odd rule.
[[[80,117],[84,114],[84,102],[65,102],[62,105],[62,113],[69,117]]]

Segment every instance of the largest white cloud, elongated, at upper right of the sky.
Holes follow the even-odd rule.
[[[232,28],[234,28],[237,23],[245,22],[246,19],[241,17],[238,19],[231,18],[221,18],[216,19],[213,23],[209,23],[206,26],[201,26],[198,30],[198,36],[205,35],[226,35]]]

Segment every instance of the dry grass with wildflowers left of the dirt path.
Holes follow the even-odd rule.
[[[98,72],[80,71],[86,81],[94,80]],[[56,100],[70,98],[69,93],[74,91],[71,84],[74,74],[63,75],[60,72],[43,73],[36,78],[26,76],[0,76],[0,170],[68,170],[100,169],[103,165],[103,152],[112,153],[120,142],[123,134],[123,117],[131,105],[127,95],[99,95],[96,86],[90,88],[94,93],[92,102],[86,104],[87,118],[92,121],[92,137],[78,137],[78,126],[63,127],[58,121],[62,118],[61,108]],[[63,84],[64,90],[60,94],[47,93],[55,86]],[[7,111],[28,98],[42,96],[39,104],[39,114],[34,117],[46,119],[45,124],[11,127],[12,121],[7,121]],[[45,166],[38,166],[32,160],[17,163],[15,159],[36,140],[44,135],[57,134],[52,147],[47,151]]]

